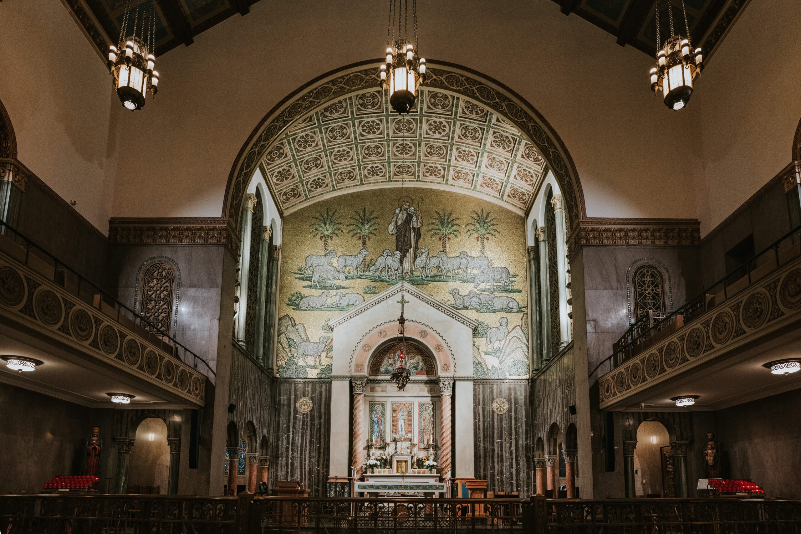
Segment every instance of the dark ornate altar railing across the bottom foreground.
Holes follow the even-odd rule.
[[[0,496],[0,532],[799,534],[801,501]]]

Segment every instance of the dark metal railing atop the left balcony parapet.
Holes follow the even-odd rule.
[[[155,346],[161,347],[167,354],[171,354],[187,365],[192,365],[195,369],[197,369],[198,362],[201,362],[212,375],[216,375],[206,360],[2,220],[0,220],[0,233],[8,240],[2,241],[2,237],[0,237],[0,250],[3,252],[38,273],[52,277],[54,283],[61,285],[75,297],[103,312],[109,318],[115,319],[127,330],[131,330]]]

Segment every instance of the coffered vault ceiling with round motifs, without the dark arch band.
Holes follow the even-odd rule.
[[[288,125],[260,162],[284,213],[364,188],[453,188],[523,213],[545,160],[517,127],[487,107],[421,87],[409,115],[379,89],[356,91]]]

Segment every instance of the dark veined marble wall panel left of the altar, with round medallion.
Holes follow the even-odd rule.
[[[277,390],[276,459],[270,473],[270,487],[278,480],[298,480],[310,490],[311,496],[325,496],[330,457],[331,382],[280,381]],[[311,410],[305,413],[298,407],[298,400],[303,397],[312,400]]]

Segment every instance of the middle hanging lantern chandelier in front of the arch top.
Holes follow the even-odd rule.
[[[386,64],[381,65],[380,87],[388,88],[389,104],[398,113],[409,113],[417,100],[417,88],[425,80],[425,59],[417,57],[417,49],[409,42],[408,15],[409,0],[389,0],[387,56]],[[417,42],[417,0],[412,0],[412,23]]]

